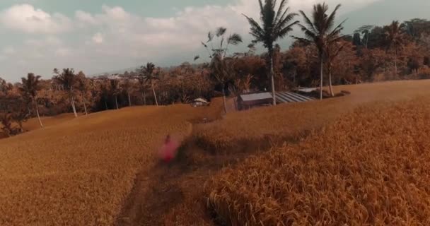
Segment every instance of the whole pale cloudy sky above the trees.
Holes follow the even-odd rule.
[[[310,12],[318,0],[289,0],[291,11]],[[429,0],[326,0],[342,4],[344,32],[392,20],[430,19]],[[207,53],[201,41],[219,26],[252,40],[242,13],[259,19],[257,0],[1,0],[0,77],[16,82],[29,72],[43,78],[52,69],[74,68],[87,75],[146,64],[173,66]],[[300,17],[296,18],[300,20]],[[298,28],[291,35],[300,36]],[[282,49],[291,37],[280,40]],[[262,47],[259,48],[262,51]]]

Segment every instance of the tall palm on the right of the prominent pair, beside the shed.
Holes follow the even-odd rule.
[[[324,4],[317,4],[313,6],[313,13],[312,13],[312,19],[308,18],[306,16],[306,13],[303,11],[300,11],[301,15],[303,16],[304,25],[298,24],[301,27],[301,30],[305,33],[305,38],[301,37],[295,37],[297,40],[300,40],[301,42],[305,43],[313,43],[315,44],[315,47],[318,49],[318,58],[320,59],[320,99],[322,100],[322,79],[324,76],[324,59],[326,56],[326,50],[327,46],[329,46],[332,43],[335,43],[342,39],[342,36],[340,35],[340,32],[343,30],[343,23],[339,23],[336,27],[335,25],[335,17],[336,12],[340,8],[340,4],[336,6],[335,10],[330,13],[330,15],[327,14],[328,11],[328,5]],[[331,78],[329,78],[329,82],[331,81]],[[330,84],[331,85],[331,84]]]

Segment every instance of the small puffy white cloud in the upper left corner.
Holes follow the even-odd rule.
[[[11,6],[0,13],[6,28],[28,33],[59,33],[71,30],[71,21],[61,13],[46,13],[29,4]]]

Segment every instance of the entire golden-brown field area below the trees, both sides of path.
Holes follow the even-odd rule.
[[[153,216],[163,216],[157,222],[164,225],[213,225],[200,219],[205,195],[211,210],[234,225],[426,225],[430,99],[416,97],[429,96],[429,87],[430,81],[340,86],[351,95],[223,119],[220,99],[207,108],[128,107],[52,119],[44,129],[0,140],[0,225],[113,225],[127,215],[130,194],[146,194],[136,186],[160,187],[141,202],[177,190],[182,197],[173,208],[152,203],[154,214],[132,203],[129,209],[145,217],[139,225],[151,225],[141,221]],[[168,133],[192,134],[199,147],[187,150],[196,148],[190,162],[156,168],[154,153]],[[241,161],[267,141],[294,142]],[[238,165],[219,173],[208,167],[221,152]],[[165,174],[177,168],[180,174]]]

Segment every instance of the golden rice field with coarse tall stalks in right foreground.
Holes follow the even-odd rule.
[[[359,107],[207,184],[228,225],[430,225],[430,98]]]

